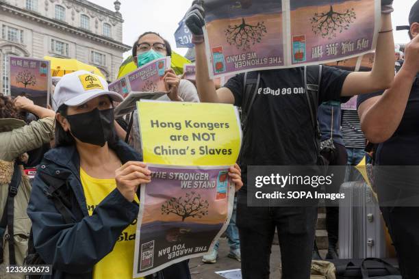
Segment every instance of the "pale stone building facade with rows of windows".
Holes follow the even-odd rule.
[[[0,92],[8,94],[8,55],[75,58],[97,66],[108,81],[123,53],[120,2],[115,11],[86,0],[0,0]]]

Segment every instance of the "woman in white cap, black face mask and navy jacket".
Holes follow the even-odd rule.
[[[102,77],[77,71],[62,77],[54,101],[55,148],[38,168],[28,207],[29,263],[53,265],[52,278],[132,278],[136,190],[150,172],[116,138],[112,101],[122,97]]]

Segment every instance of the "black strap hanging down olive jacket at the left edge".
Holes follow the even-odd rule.
[[[9,243],[9,264],[16,265],[16,256],[14,252],[14,197],[17,194],[19,185],[22,181],[22,172],[19,166],[18,161],[14,161],[14,170],[12,181],[9,184],[9,194],[6,201],[5,210],[3,211],[3,216],[0,221],[0,263],[3,263],[3,235],[5,233],[5,228],[8,228],[8,243]]]

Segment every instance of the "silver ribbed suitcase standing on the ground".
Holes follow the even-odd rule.
[[[385,223],[379,204],[364,181],[342,184],[339,202],[339,257],[387,258]]]

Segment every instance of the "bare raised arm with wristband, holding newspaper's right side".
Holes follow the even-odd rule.
[[[394,39],[392,33],[392,1],[382,1],[381,31],[377,40],[371,72],[351,72],[342,87],[342,96],[353,96],[390,88],[394,79]],[[385,13],[387,12],[387,13]]]

